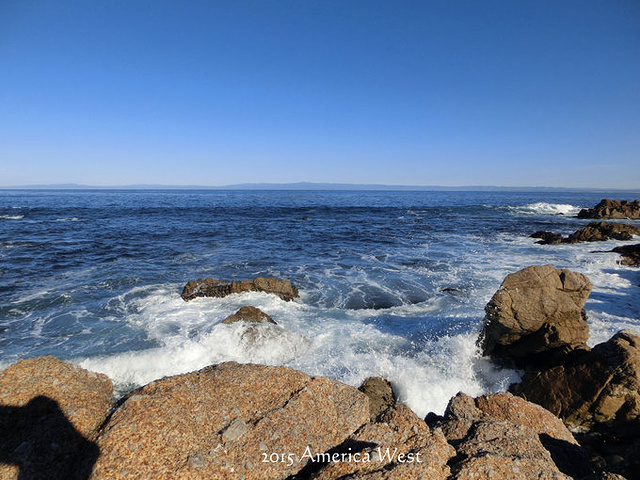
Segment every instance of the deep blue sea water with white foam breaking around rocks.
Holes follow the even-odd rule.
[[[591,344],[640,333],[631,242],[541,246],[580,208],[637,192],[0,191],[0,368],[56,355],[106,373],[122,393],[227,360],[287,365],[358,385],[388,378],[418,414],[518,372],[480,358],[483,309],[533,264],[589,276]],[[638,224],[638,222],[636,222]],[[598,250],[600,252],[595,252]],[[198,298],[191,279],[275,276],[301,298]],[[220,321],[244,305],[278,327]]]

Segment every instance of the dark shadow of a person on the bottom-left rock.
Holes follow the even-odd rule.
[[[23,407],[0,406],[0,472],[13,465],[19,480],[84,480],[99,454],[48,397],[34,397]]]

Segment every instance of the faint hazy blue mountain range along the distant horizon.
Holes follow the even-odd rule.
[[[477,191],[477,192],[640,192],[632,189],[577,188],[577,187],[503,187],[490,185],[438,186],[438,185],[382,185],[358,183],[238,183],[234,185],[119,185],[95,186],[77,183],[47,185],[20,185],[0,187],[0,190],[377,190],[377,191]]]

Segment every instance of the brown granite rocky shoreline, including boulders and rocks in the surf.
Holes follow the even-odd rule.
[[[242,291],[298,294],[277,279],[206,279],[183,298]],[[0,372],[0,480],[640,478],[640,336],[621,331],[589,348],[590,291],[586,276],[550,265],[508,275],[478,346],[523,370],[521,381],[460,392],[424,419],[380,378],[355,388],[227,362],[113,401],[105,375],[51,356],[20,360]],[[280,328],[253,307],[224,321]]]

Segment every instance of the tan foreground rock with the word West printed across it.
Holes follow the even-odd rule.
[[[358,453],[354,461],[353,455]],[[352,460],[330,463],[309,462],[294,479],[337,480],[445,480],[447,462],[455,455],[439,430],[431,430],[405,405],[387,409],[376,423],[369,423],[330,455],[349,455]],[[340,458],[340,457],[337,457]]]

